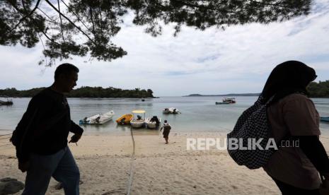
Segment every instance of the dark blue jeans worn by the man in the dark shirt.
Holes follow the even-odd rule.
[[[51,177],[62,182],[65,194],[79,194],[80,172],[69,147],[53,155],[30,155],[30,167],[22,195],[45,194]]]

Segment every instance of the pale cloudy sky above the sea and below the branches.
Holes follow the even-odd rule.
[[[183,27],[177,37],[173,25],[163,25],[158,37],[144,29],[127,14],[112,42],[128,54],[112,61],[74,57],[45,67],[37,65],[44,59],[41,43],[32,49],[0,46],[0,89],[50,86],[64,62],[80,69],[76,88],[150,88],[155,96],[259,93],[270,71],[287,60],[316,69],[316,81],[329,80],[329,0],[314,1],[308,16],[283,23]]]

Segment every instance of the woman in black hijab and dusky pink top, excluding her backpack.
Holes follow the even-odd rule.
[[[319,116],[306,86],[316,72],[300,61],[286,61],[270,73],[262,96],[275,141],[282,144],[264,168],[282,194],[320,194],[319,173],[329,179],[329,159],[319,141]],[[295,147],[292,147],[295,144]],[[299,145],[299,146],[298,146]]]

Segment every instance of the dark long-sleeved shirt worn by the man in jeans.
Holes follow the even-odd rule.
[[[71,121],[67,98],[62,93],[45,88],[28,105],[16,131],[21,131],[21,143],[16,146],[20,162],[30,153],[52,155],[67,146],[69,131],[82,134],[83,129]]]

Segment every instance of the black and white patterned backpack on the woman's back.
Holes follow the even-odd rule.
[[[271,100],[272,98],[264,104],[262,103],[263,98],[260,95],[260,98],[258,98],[254,105],[241,114],[236,122],[236,126],[234,126],[233,131],[227,134],[227,150],[229,151],[231,158],[233,158],[238,165],[245,165],[251,170],[258,169],[266,165],[267,161],[270,159],[270,156],[275,152],[273,149],[265,150],[270,138],[270,123],[267,119],[266,110],[267,105]],[[243,146],[245,147],[250,144],[248,143],[248,138],[249,141],[253,138],[255,138],[256,141],[262,138],[260,146],[262,146],[264,150],[260,150],[257,147],[252,150],[241,149],[241,147],[231,149],[229,147],[230,138],[242,139]]]

